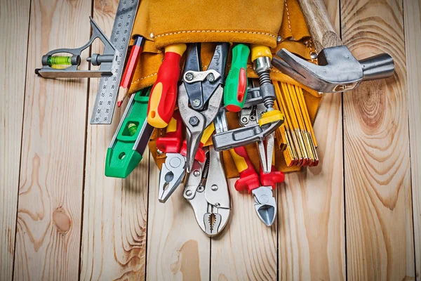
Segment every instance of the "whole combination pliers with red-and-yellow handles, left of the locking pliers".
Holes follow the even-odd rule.
[[[201,143],[196,152],[196,161],[204,163],[206,161],[205,152],[201,149],[203,144],[208,141],[210,135],[215,130],[213,123],[203,132]],[[171,121],[168,123],[166,135],[156,139],[156,148],[166,153],[165,163],[159,172],[159,202],[165,203],[166,200],[178,188],[186,174],[186,148],[187,143],[182,143],[182,120],[180,112],[176,110],[173,113]]]

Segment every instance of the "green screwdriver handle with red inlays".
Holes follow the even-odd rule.
[[[247,59],[250,48],[245,44],[237,44],[232,48],[232,63],[227,79],[225,79],[224,103],[231,112],[239,112],[243,108],[247,96]]]

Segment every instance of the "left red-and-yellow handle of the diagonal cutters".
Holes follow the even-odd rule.
[[[235,189],[237,191],[247,190],[247,192],[250,193],[251,190],[259,188],[259,175],[256,173],[250,157],[248,157],[246,148],[240,146],[238,148],[230,149],[229,152],[231,152],[236,169],[240,174],[240,178],[234,183]]]

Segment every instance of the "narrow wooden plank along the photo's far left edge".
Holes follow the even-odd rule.
[[[0,280],[11,280],[30,0],[8,0],[0,9]]]

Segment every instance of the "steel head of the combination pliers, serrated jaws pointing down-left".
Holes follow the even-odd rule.
[[[159,202],[166,200],[178,188],[185,177],[186,159],[179,153],[167,153],[165,163],[159,172]]]

